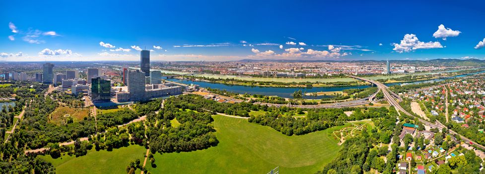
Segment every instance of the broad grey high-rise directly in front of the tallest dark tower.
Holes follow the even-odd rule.
[[[130,92],[130,99],[133,101],[144,99],[145,73],[138,70],[128,73],[128,92]]]

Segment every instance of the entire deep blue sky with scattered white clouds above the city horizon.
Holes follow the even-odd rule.
[[[22,0],[0,6],[0,60],[8,61],[136,61],[137,46],[153,50],[152,60],[167,61],[485,58],[480,1]]]

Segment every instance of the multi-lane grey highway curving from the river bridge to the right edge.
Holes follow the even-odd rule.
[[[399,105],[399,103],[394,100],[394,98],[392,97],[393,95],[395,94],[391,94],[389,93],[389,91],[387,90],[387,86],[385,86],[384,84],[381,84],[377,81],[372,81],[372,80],[367,80],[367,79],[364,79],[364,78],[360,78],[360,77],[355,77],[355,76],[348,76],[348,77],[351,77],[351,78],[354,78],[354,79],[357,79],[357,80],[361,80],[361,81],[366,81],[366,82],[369,82],[371,84],[374,84],[376,85],[377,87],[379,87],[382,92],[384,93],[384,97],[388,100],[389,104],[391,104],[392,106],[394,106],[396,108],[396,110],[398,111],[402,111],[403,113],[405,113],[406,115],[409,115],[409,116],[412,116],[414,117],[414,115],[410,114],[408,111],[404,110],[403,107],[401,107],[401,105]],[[392,91],[391,91],[392,92]],[[433,127],[433,128],[438,128],[440,130],[442,130],[443,128],[445,128],[446,126],[443,125],[442,123],[440,123],[439,121],[436,120],[435,123],[431,123],[429,121],[426,121],[426,120],[423,120],[421,118],[418,117],[418,120],[421,121],[424,125],[426,126],[429,126],[429,127]],[[485,149],[485,146],[482,146],[480,144],[477,144],[476,142],[473,142],[472,140],[468,139],[467,137],[465,136],[462,136],[460,134],[458,134],[457,132],[451,130],[451,129],[448,129],[449,133],[451,134],[456,134],[456,135],[459,135],[460,138],[465,142],[465,143],[468,143],[468,144],[474,144],[476,145],[477,147],[479,148],[482,148],[482,149]]]

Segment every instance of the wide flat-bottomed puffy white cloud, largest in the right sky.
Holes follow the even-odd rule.
[[[443,48],[439,42],[422,42],[415,34],[404,35],[400,44],[394,43],[393,50],[398,53],[410,52],[417,49]]]

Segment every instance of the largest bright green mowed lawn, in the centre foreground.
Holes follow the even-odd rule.
[[[342,128],[300,136],[286,136],[246,119],[215,115],[219,144],[205,150],[155,154],[152,174],[266,174],[279,166],[282,174],[308,174],[321,170],[341,149],[328,136]]]

